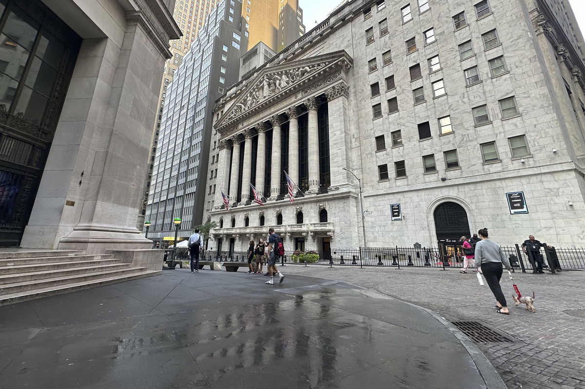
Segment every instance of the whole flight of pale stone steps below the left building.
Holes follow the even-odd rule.
[[[158,274],[160,271],[124,263],[112,254],[87,255],[63,250],[0,252],[0,305]]]

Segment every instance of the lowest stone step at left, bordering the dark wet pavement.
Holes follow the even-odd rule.
[[[134,268],[144,269],[144,268]],[[20,291],[11,294],[0,295],[0,306],[21,303],[23,301],[35,300],[36,298],[54,296],[56,294],[70,293],[77,290],[91,289],[98,286],[105,286],[118,282],[124,282],[129,280],[135,280],[144,277],[156,276],[161,273],[161,270],[156,271],[139,271],[136,270],[132,273],[126,273],[125,275],[110,275],[92,280],[82,280],[74,283],[68,283],[63,285],[47,286],[41,289]]]

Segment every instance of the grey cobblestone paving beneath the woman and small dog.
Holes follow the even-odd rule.
[[[479,343],[508,388],[585,389],[585,272],[560,275],[514,273],[522,294],[536,294],[536,312],[514,306],[512,283],[502,289],[511,315],[495,312],[488,286],[473,272],[424,268],[328,268],[289,265],[283,273],[350,282],[417,304],[450,321],[480,321],[514,338],[512,343]]]

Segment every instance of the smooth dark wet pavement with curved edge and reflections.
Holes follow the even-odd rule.
[[[187,269],[0,307],[0,387],[503,388],[432,312],[313,277]]]

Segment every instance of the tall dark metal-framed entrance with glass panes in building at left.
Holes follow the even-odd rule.
[[[80,44],[39,0],[0,1],[0,246],[22,237]]]

